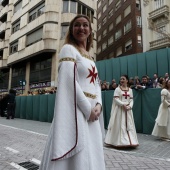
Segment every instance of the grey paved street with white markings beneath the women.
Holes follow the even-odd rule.
[[[38,170],[50,125],[0,117],[0,170]],[[137,149],[104,147],[106,170],[170,170],[170,142],[137,135]]]

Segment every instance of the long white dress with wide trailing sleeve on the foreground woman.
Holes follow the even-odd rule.
[[[68,44],[59,57],[54,118],[40,170],[105,170],[103,124],[88,121],[102,103],[95,63]]]

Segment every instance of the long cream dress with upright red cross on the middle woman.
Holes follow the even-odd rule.
[[[105,144],[113,147],[136,147],[139,145],[132,109],[125,112],[123,105],[133,107],[132,89],[122,90],[117,87],[113,96],[111,117]]]

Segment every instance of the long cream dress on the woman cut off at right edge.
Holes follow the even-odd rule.
[[[152,131],[153,136],[170,139],[170,92],[167,89],[161,91],[161,104],[155,126]]]

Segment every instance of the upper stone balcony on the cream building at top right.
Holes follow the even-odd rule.
[[[164,5],[161,8],[158,8],[149,13],[149,19],[151,19],[152,21],[160,17],[164,17],[164,18],[169,17],[169,7],[167,5]]]

